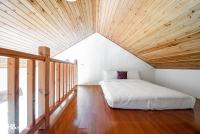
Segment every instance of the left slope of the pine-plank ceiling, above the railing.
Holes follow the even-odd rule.
[[[52,56],[95,32],[93,0],[0,0],[0,46]]]

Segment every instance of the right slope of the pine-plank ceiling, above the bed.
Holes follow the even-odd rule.
[[[200,69],[199,0],[99,0],[97,31],[155,68]]]

